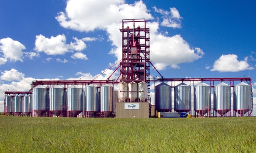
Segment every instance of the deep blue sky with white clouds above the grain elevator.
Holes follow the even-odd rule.
[[[38,79],[93,79],[120,60],[122,19],[150,20],[150,60],[164,78],[251,77],[255,107],[254,6],[254,0],[1,0],[0,111],[6,90],[28,91]],[[152,69],[151,76],[159,74]]]

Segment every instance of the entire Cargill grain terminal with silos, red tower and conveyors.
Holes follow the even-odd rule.
[[[251,78],[164,78],[150,61],[145,19],[122,20],[119,77],[110,80],[36,80],[29,91],[6,91],[7,116],[149,118],[158,112],[194,117],[251,116]],[[151,67],[160,75],[150,77]],[[113,72],[113,74],[114,74]],[[155,99],[151,103],[150,83]]]

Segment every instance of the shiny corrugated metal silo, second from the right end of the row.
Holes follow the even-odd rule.
[[[214,87],[213,116],[231,116],[231,87],[221,82]]]

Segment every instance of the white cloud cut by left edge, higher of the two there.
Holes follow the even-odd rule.
[[[5,60],[1,58],[0,63],[5,63],[7,60],[23,62],[22,50],[26,49],[23,44],[9,37],[0,39],[0,44],[0,52],[3,53],[3,58],[5,58]]]

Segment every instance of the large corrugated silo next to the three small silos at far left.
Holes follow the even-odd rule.
[[[33,88],[32,94],[32,115],[47,116],[49,111],[49,94],[44,86],[36,86]]]

